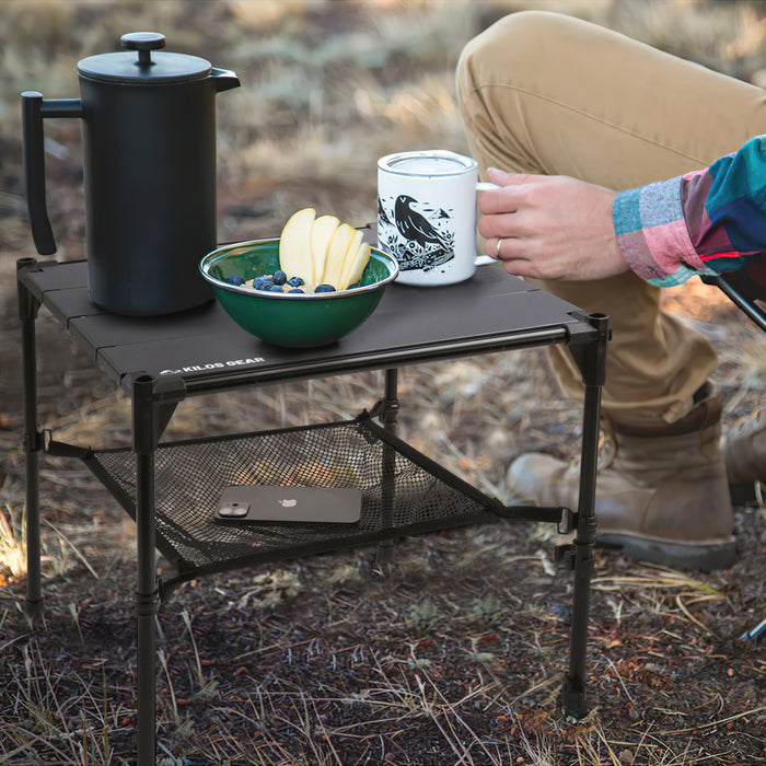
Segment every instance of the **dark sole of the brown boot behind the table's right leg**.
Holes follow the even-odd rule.
[[[619,532],[599,533],[597,547],[618,548],[628,558],[662,564],[674,569],[713,571],[728,569],[736,560],[734,539],[724,543],[669,543]]]

